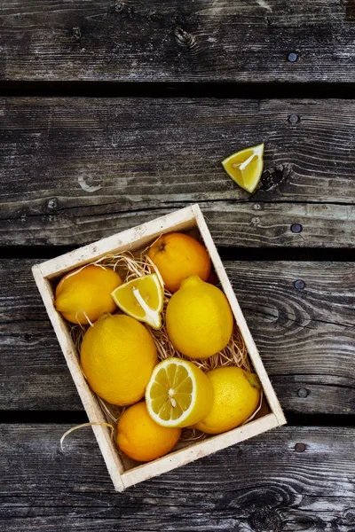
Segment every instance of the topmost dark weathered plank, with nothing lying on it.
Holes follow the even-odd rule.
[[[1,77],[353,82],[354,19],[351,0],[19,0],[1,6]]]

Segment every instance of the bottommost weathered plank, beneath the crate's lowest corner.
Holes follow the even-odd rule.
[[[114,493],[91,429],[1,426],[6,532],[353,528],[352,427],[282,427]],[[303,445],[302,445],[303,444]]]

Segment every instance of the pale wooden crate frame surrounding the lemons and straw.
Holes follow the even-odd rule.
[[[134,227],[128,231],[122,231],[106,239],[101,239],[89,246],[81,247],[50,261],[36,264],[32,269],[36,284],[51,319],[51,324],[57,334],[60,347],[66,357],[68,368],[75,381],[88,418],[91,422],[106,422],[106,417],[99,405],[98,398],[91,391],[81,372],[79,358],[74,342],[70,336],[67,322],[54,307],[54,289],[56,283],[68,271],[89,262],[97,261],[106,254],[138,251],[148,246],[162,233],[192,231],[196,229],[200,231],[201,239],[209,250],[209,255],[233,310],[236,323],[241,329],[245,344],[248,348],[248,355],[264,388],[267,408],[263,409],[263,414],[258,419],[254,419],[244,426],[237,427],[225,434],[208,437],[208,439],[201,442],[191,443],[183,449],[175,450],[167,456],[148,462],[147,464],[132,467],[128,467],[127,463],[123,463],[115,442],[111,439],[110,429],[106,426],[92,426],[92,430],[99,443],[99,448],[105,458],[108,472],[114,482],[114,489],[117,491],[122,491],[140,481],[145,481],[155,475],[165,473],[180,465],[185,465],[196,458],[205,457],[217,450],[246,440],[256,434],[264,433],[266,430],[275,426],[285,424],[286,419],[280,408],[280,403],[272,388],[270,379],[264,370],[264,365],[257,351],[256,344],[248,330],[248,325],[241,312],[241,307],[233,293],[233,288],[198,205],[185,207],[170,215],[157,218],[152,222],[143,223],[142,225],[138,225],[138,227]]]

